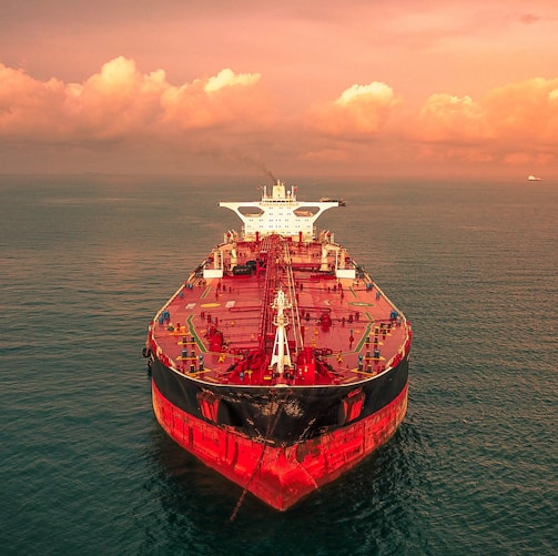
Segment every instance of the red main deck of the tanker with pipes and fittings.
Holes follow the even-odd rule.
[[[222,251],[222,276],[201,266],[192,272],[151,325],[150,347],[166,366],[210,384],[326,386],[369,380],[400,361],[409,325],[363,269],[352,262],[353,274],[336,274],[333,253],[324,271],[323,243],[315,240],[282,241],[281,257],[272,247],[235,242]],[[233,273],[231,253],[245,274]],[[253,264],[263,259],[265,266]],[[292,300],[286,330],[293,370],[277,375],[270,365],[270,306],[280,287]],[[308,366],[311,358],[317,364]]]

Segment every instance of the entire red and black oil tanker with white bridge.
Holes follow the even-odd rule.
[[[410,324],[319,215],[277,181],[221,202],[242,221],[156,313],[153,408],[184,449],[284,510],[402,423]]]

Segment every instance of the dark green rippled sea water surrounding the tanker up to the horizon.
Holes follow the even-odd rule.
[[[558,186],[302,180],[413,323],[406,419],[277,513],[158,425],[158,309],[264,180],[0,178],[0,548],[9,555],[556,554]]]

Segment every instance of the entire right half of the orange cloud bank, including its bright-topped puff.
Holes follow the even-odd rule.
[[[407,162],[550,164],[558,141],[558,80],[509,83],[478,100],[434,93],[415,113],[385,83],[355,84],[315,109],[308,129],[322,144],[305,160],[351,161],[349,151],[361,160],[393,156],[397,144],[402,159],[410,156]]]

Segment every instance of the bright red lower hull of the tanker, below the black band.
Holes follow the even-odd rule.
[[[336,479],[385,444],[403,422],[408,385],[378,412],[342,428],[290,446],[255,442],[217,427],[173,405],[153,384],[161,426],[209,467],[284,510]]]

